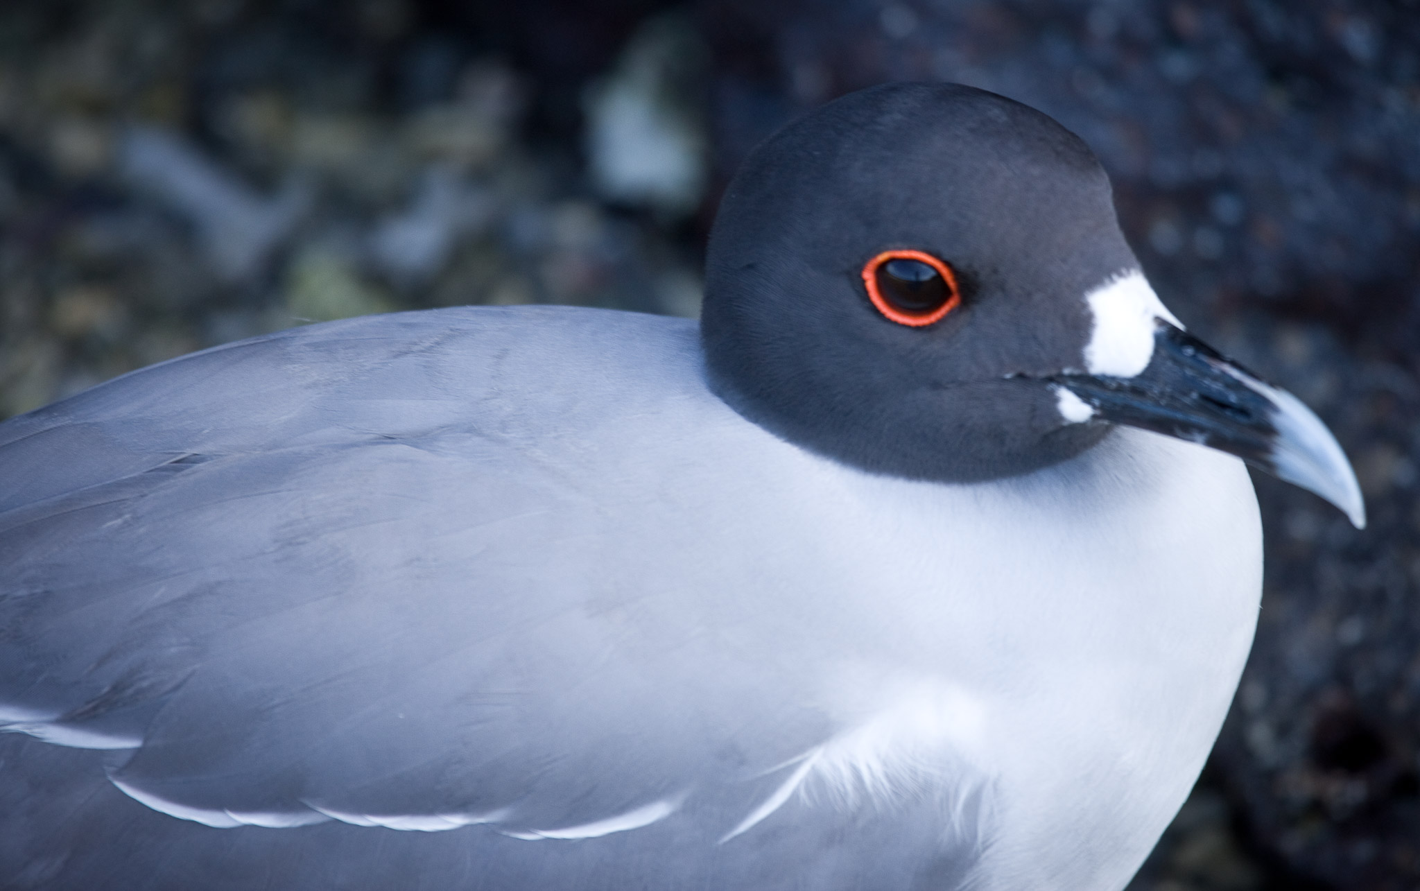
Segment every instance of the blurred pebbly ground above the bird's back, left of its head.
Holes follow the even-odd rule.
[[[304,321],[696,314],[703,44],[646,11],[540,81],[402,0],[0,4],[0,414]]]

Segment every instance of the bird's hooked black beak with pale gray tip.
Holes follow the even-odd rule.
[[[1062,374],[1051,382],[1093,408],[1091,421],[1126,423],[1237,455],[1315,492],[1365,529],[1356,473],[1309,408],[1191,334],[1162,318],[1156,323],[1153,357],[1137,375]]]

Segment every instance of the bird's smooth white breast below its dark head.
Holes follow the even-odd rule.
[[[1120,429],[1015,480],[835,485],[829,522],[875,558],[843,580],[866,600],[819,597],[814,621],[859,637],[822,675],[845,730],[805,755],[801,793],[852,806],[934,772],[957,796],[987,786],[990,887],[1123,887],[1251,645],[1261,527],[1242,463]]]

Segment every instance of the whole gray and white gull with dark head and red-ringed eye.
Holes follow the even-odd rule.
[[[0,423],[0,885],[1118,890],[1251,647],[1247,465],[1078,136],[787,124],[699,320],[291,328]]]

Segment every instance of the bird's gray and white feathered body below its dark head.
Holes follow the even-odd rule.
[[[50,446],[75,431],[82,485]],[[730,411],[679,320],[332,323],[128,375],[7,433],[31,504],[7,514],[7,594],[30,601],[33,642],[6,662],[54,664],[7,708],[41,739],[121,753],[124,792],[193,821],[138,820],[179,847],[222,834],[199,823],[488,823],[467,830],[477,851],[508,844],[494,830],[594,834],[652,807],[648,824],[734,854],[777,821],[892,826],[926,799],[940,850],[913,838],[912,861],[977,846],[1011,864],[1000,887],[1119,884],[1201,766],[1257,608],[1234,458],[1120,431],[1020,479],[875,476]],[[456,510],[408,495],[444,490]],[[1179,523],[1180,500],[1203,522]],[[500,557],[528,544],[535,561]],[[203,553],[223,558],[183,566]],[[141,702],[105,703],[155,695],[151,742]],[[674,732],[640,733],[648,716]],[[254,728],[301,745],[243,747]],[[109,834],[141,810],[88,807]],[[33,831],[65,863],[95,841],[55,851],[57,827]],[[1123,874],[1088,854],[1106,834],[1132,853]]]

